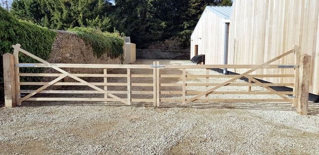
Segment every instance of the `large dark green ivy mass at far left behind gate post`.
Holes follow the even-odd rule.
[[[2,54],[12,53],[14,44],[45,60],[49,58],[56,32],[36,26],[29,22],[17,20],[8,11],[0,7],[0,103],[3,101],[3,61]],[[33,58],[20,53],[20,62],[37,63]],[[41,72],[41,68],[22,68],[21,72]],[[24,80],[24,79],[22,79]]]

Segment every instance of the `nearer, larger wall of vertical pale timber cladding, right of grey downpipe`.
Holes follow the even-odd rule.
[[[319,94],[319,0],[235,0],[229,32],[229,64],[261,64],[301,46],[312,55],[310,91]],[[273,64],[293,64],[293,55]],[[233,70],[243,73],[244,69]],[[293,74],[293,70],[265,69],[256,74]],[[289,78],[265,78],[293,82]]]

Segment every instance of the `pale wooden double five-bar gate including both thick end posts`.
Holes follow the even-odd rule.
[[[5,82],[5,103],[7,107],[21,105],[25,101],[92,101],[92,102],[116,102],[131,104],[136,102],[150,102],[154,106],[160,106],[163,102],[173,103],[213,103],[213,102],[289,102],[297,107],[301,114],[308,112],[308,91],[309,91],[309,72],[310,56],[299,54],[299,47],[294,47],[288,52],[260,65],[160,65],[153,62],[152,65],[111,65],[111,64],[53,64],[49,63],[23,49],[19,44],[13,45],[14,53],[3,55],[4,82]],[[19,63],[19,52],[22,52],[41,63]],[[270,63],[294,53],[295,64],[290,65],[271,65]],[[20,73],[22,67],[41,67],[52,68],[58,73]],[[67,69],[86,68],[100,69],[103,74],[75,74]],[[248,71],[240,75],[222,75],[211,74],[211,69],[220,68],[244,68]],[[124,69],[125,74],[109,74],[107,69]],[[191,74],[188,70],[205,70],[205,74]],[[252,74],[258,69],[281,69],[294,70],[294,74],[282,75],[257,75]],[[132,72],[134,70],[134,72]],[[138,70],[138,72],[136,71]],[[168,72],[167,72],[168,71]],[[136,74],[138,73],[138,74]],[[172,74],[169,74],[172,73]],[[53,80],[47,82],[20,81],[20,77],[46,77]],[[63,78],[72,78],[76,82],[61,82]],[[88,82],[83,78],[103,78],[103,82]],[[110,82],[108,78],[125,78],[125,82]],[[136,80],[135,78],[147,78],[145,80]],[[205,79],[205,82],[194,82],[191,79]],[[223,82],[210,82],[211,78],[226,79]],[[236,83],[239,78],[247,78],[248,82]],[[292,83],[263,83],[257,78],[292,78]],[[166,80],[164,80],[166,79]],[[143,82],[134,82],[143,81]],[[167,82],[168,81],[168,82]],[[20,90],[25,85],[38,85],[34,90]],[[45,90],[50,86],[88,86],[92,90]],[[125,90],[111,90],[110,87],[125,87]],[[221,87],[235,86],[247,87],[246,91],[220,91]],[[263,87],[266,91],[252,91],[251,87]],[[273,86],[286,86],[293,88],[292,91],[276,91]],[[134,87],[143,87],[141,90],[135,90]],[[177,87],[178,89],[172,89]],[[188,90],[189,87],[201,87],[201,89]],[[205,90],[203,90],[203,88]],[[180,90],[179,90],[180,89]],[[25,96],[21,94],[26,94]],[[34,97],[36,94],[104,94],[101,98],[70,98],[70,97]],[[134,98],[134,94],[146,95],[143,98]],[[238,99],[230,98],[212,98],[213,95],[256,95],[272,94],[278,98],[275,99]],[[173,98],[167,98],[167,95],[174,95]]]

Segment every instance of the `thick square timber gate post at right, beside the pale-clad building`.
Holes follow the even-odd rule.
[[[310,62],[311,62],[310,55],[308,54],[301,55],[300,66],[299,66],[298,97],[297,97],[297,101],[298,101],[297,112],[301,115],[308,114]]]

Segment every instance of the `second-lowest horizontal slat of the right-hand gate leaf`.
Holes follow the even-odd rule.
[[[203,93],[204,91],[186,91],[186,94],[190,94],[190,95],[196,95],[196,94],[200,94]],[[280,94],[289,94],[292,95],[293,92],[291,91],[279,91],[278,93]],[[183,92],[182,91],[160,91],[160,94],[180,94],[182,95]],[[242,92],[242,91],[214,91],[210,94],[274,94],[272,92],[265,92],[265,91],[250,91],[250,92]]]

